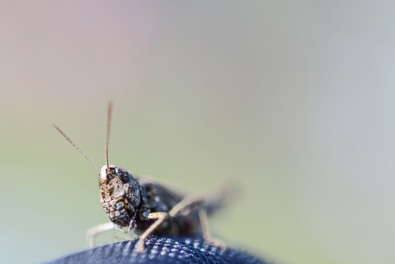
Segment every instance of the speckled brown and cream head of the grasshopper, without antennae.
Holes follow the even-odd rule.
[[[134,220],[140,204],[140,190],[135,179],[124,168],[107,165],[100,170],[100,202],[111,222],[122,226]]]

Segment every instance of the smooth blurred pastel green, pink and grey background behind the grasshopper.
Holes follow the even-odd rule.
[[[213,233],[278,263],[394,263],[391,1],[2,1],[1,263],[87,249],[96,165],[242,194]],[[118,231],[98,243],[128,239]]]

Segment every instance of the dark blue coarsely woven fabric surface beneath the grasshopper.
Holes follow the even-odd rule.
[[[137,240],[123,241],[60,258],[51,264],[123,264],[123,263],[177,263],[177,264],[267,264],[259,257],[240,249],[222,251],[203,239],[148,238],[146,250],[134,251]]]

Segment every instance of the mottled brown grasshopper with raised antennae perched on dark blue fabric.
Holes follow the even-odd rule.
[[[213,238],[209,231],[207,210],[217,207],[220,199],[206,196],[184,196],[164,187],[152,179],[130,172],[108,162],[112,102],[108,106],[107,140],[105,143],[106,164],[100,172],[92,160],[56,124],[52,125],[93,165],[99,175],[100,202],[109,223],[94,226],[87,232],[88,245],[94,247],[94,236],[110,229],[141,234],[135,250],[142,253],[145,239],[149,236],[196,236],[203,234],[207,242],[226,249],[224,242]]]

